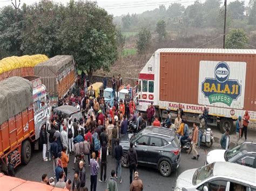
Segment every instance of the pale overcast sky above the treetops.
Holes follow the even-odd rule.
[[[15,2],[15,0],[13,0]],[[19,0],[16,0],[17,2]],[[40,0],[20,0],[21,4],[32,4],[34,2],[39,2]],[[69,2],[69,0],[53,0],[55,2],[62,2],[66,4]],[[78,0],[75,0],[78,1]],[[93,1],[93,0],[91,0]],[[96,1],[96,0],[95,0]],[[199,0],[200,1],[200,0]],[[223,0],[224,1],[224,0]],[[228,0],[228,2],[235,1],[235,0]],[[241,0],[240,0],[241,1]],[[246,0],[245,2],[248,2],[249,0]],[[106,9],[109,13],[111,13],[114,16],[120,16],[127,13],[142,13],[146,10],[153,10],[159,7],[159,5],[164,4],[166,8],[171,3],[181,3],[184,6],[188,6],[190,4],[193,4],[193,0],[97,0],[97,3],[102,8]],[[201,2],[205,2],[205,0],[201,0]],[[10,5],[11,0],[0,0],[0,7],[3,7],[5,5]]]

